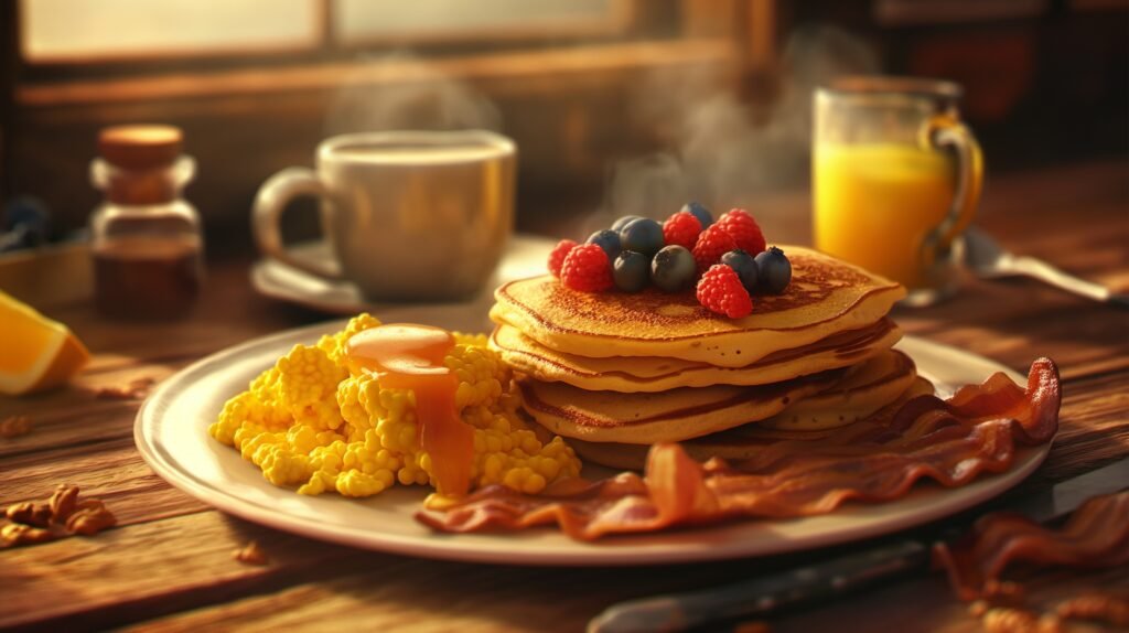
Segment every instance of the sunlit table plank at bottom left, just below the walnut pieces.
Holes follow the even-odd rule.
[[[268,565],[233,557],[251,539],[266,552]],[[6,551],[0,628],[102,628],[245,596],[304,573],[333,573],[334,562],[344,570],[377,557],[200,512]]]

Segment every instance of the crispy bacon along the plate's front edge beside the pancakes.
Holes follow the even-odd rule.
[[[931,478],[959,486],[1008,469],[1015,446],[1050,441],[1061,393],[1050,359],[1031,366],[1026,389],[1003,373],[948,401],[919,396],[886,420],[857,422],[811,441],[780,441],[733,465],[698,464],[674,443],[651,447],[642,477],[621,473],[526,495],[504,486],[417,519],[443,531],[560,526],[570,537],[647,533],[734,517],[805,517],[848,500],[882,502]]]

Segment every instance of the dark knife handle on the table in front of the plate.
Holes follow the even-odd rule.
[[[588,623],[588,633],[680,631],[718,619],[763,615],[924,566],[929,548],[901,540],[762,578],[684,594],[612,605]]]

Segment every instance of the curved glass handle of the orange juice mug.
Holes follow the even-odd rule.
[[[938,114],[921,128],[921,140],[926,147],[940,149],[952,147],[956,150],[957,176],[956,193],[948,213],[939,225],[934,227],[921,243],[921,261],[925,270],[933,270],[937,255],[946,250],[964,227],[972,221],[977,205],[980,203],[980,191],[983,187],[984,159],[980,152],[980,143],[966,125],[948,114]]]

